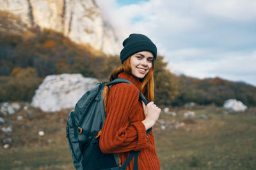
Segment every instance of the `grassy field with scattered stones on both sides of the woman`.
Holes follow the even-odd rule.
[[[10,148],[3,148],[0,132],[0,169],[74,169],[65,138],[68,110],[42,113],[29,108],[4,116],[12,126]],[[188,110],[196,117],[184,118]],[[161,114],[161,120],[184,122],[177,129],[154,127],[161,169],[256,169],[256,108],[233,113],[216,106],[172,108],[177,117]],[[22,116],[22,120],[17,120]],[[44,131],[44,136],[38,136]]]

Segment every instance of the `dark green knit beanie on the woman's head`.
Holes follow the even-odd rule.
[[[156,45],[143,34],[130,34],[128,38],[123,41],[123,50],[120,52],[120,59],[122,64],[132,54],[142,51],[152,52],[154,59],[157,57]]]

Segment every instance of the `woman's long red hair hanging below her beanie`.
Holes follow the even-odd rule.
[[[111,74],[110,74],[110,81],[113,81],[117,78],[119,73],[128,73],[132,74],[132,69],[131,69],[131,57],[126,59],[124,63],[118,67],[117,69],[114,69]],[[140,91],[144,93],[143,95],[147,98],[147,101],[154,101],[154,61],[152,62],[152,67],[148,74],[142,79],[141,81],[141,89]]]

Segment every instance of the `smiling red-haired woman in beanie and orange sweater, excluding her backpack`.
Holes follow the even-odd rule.
[[[143,34],[131,34],[123,42],[120,53],[122,65],[112,71],[110,81],[125,78],[109,90],[107,117],[100,137],[103,153],[118,153],[122,166],[132,150],[140,151],[138,169],[160,169],[152,131],[146,134],[159,118],[161,110],[154,104],[154,60],[157,48]],[[148,100],[140,101],[140,90]],[[127,169],[132,169],[134,161]]]

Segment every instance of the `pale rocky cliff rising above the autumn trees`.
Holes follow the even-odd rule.
[[[27,27],[53,29],[108,54],[120,52],[121,43],[95,0],[0,0],[0,10],[19,17]]]

